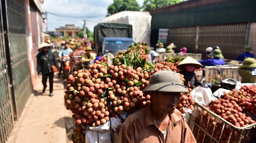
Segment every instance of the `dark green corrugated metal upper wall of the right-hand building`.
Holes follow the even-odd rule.
[[[175,13],[152,14],[151,29],[256,21],[256,0],[236,0]]]

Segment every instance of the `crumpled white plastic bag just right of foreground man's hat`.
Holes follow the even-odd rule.
[[[190,94],[192,95],[192,99],[200,105],[209,105],[211,100],[212,91],[210,88],[204,87],[196,87],[194,88]]]

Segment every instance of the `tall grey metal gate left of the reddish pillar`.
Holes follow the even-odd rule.
[[[21,114],[26,101],[32,93],[30,69],[28,68],[28,49],[26,42],[26,5],[24,0],[6,0],[8,21],[8,43],[11,69],[12,92],[15,102],[15,118]],[[26,67],[26,68],[25,68]],[[24,84],[26,83],[26,84]]]

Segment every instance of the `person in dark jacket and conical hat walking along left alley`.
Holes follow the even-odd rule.
[[[43,93],[45,93],[45,89],[47,87],[46,82],[47,78],[49,77],[50,83],[50,96],[53,97],[53,70],[52,65],[55,65],[58,68],[58,63],[55,59],[53,53],[49,52],[49,49],[52,46],[47,43],[41,43],[40,47],[38,48],[38,55],[37,58],[37,72],[38,75],[42,75],[42,83],[43,83]],[[49,63],[48,63],[49,62]]]

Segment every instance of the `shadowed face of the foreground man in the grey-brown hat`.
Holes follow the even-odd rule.
[[[153,97],[152,97],[152,94]],[[166,114],[172,114],[181,99],[181,93],[177,92],[154,92],[151,93],[151,97],[153,98],[154,106],[153,108],[158,108],[160,112],[164,112]]]

